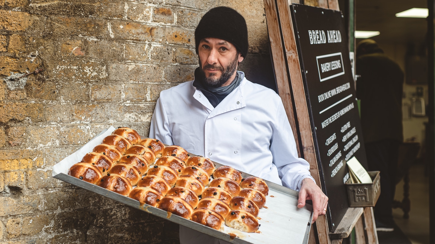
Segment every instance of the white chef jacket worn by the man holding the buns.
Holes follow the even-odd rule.
[[[149,137],[298,191],[302,179],[314,179],[309,163],[298,158],[281,98],[240,73],[240,85],[215,108],[193,81],[162,91]],[[190,229],[180,232],[181,243],[195,237],[196,231],[186,230]],[[202,239],[196,243],[219,242]]]

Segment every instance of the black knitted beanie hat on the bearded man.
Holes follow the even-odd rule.
[[[248,53],[248,28],[243,16],[229,7],[215,7],[202,16],[195,30],[196,53],[203,38],[231,42],[243,57]]]

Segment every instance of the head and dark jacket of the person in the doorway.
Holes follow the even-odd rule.
[[[388,58],[377,43],[361,43],[366,54],[358,55],[357,97],[361,100],[361,125],[364,141],[384,139],[403,141],[403,72]],[[358,46],[361,49],[361,45]]]

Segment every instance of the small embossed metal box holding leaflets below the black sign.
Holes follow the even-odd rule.
[[[368,184],[352,184],[350,178],[346,181],[348,189],[349,207],[375,207],[381,194],[380,171],[369,171],[373,183]]]

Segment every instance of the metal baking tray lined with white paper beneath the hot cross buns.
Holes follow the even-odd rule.
[[[104,130],[99,135],[91,139],[87,144],[79,150],[64,158],[62,161],[53,166],[53,177],[72,185],[84,188],[88,191],[103,195],[120,203],[126,204],[133,208],[146,211],[160,218],[167,219],[174,223],[183,225],[187,228],[200,231],[204,234],[216,237],[218,239],[236,244],[269,244],[273,243],[308,243],[308,236],[311,229],[311,220],[313,218],[312,206],[306,204],[304,208],[298,208],[298,192],[285,188],[281,185],[266,181],[269,186],[269,195],[266,197],[267,208],[261,208],[258,214],[260,218],[258,223],[261,227],[258,233],[247,233],[230,228],[225,224],[220,231],[209,228],[194,221],[179,217],[175,214],[168,214],[167,211],[155,208],[148,204],[141,206],[139,201],[125,197],[97,185],[90,184],[78,178],[68,175],[68,169],[88,153],[92,152],[93,148],[101,144],[103,138],[110,135],[114,131],[114,127]],[[145,137],[143,137],[145,138]],[[193,154],[191,154],[193,155]],[[216,168],[221,164],[216,163]],[[242,172],[243,178],[251,176]]]

